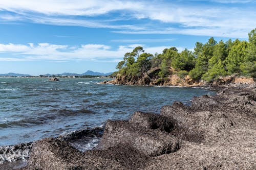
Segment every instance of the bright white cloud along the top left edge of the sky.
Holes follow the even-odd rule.
[[[13,12],[26,12],[33,11],[47,15],[85,15],[94,16],[105,14],[115,10],[130,10],[136,9],[143,4],[134,1],[61,1],[61,0],[12,0],[0,1],[0,9],[13,11]]]

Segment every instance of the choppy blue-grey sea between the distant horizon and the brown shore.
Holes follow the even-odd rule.
[[[0,78],[0,145],[29,142],[127,119],[134,111],[159,113],[174,101],[189,104],[207,89],[102,85],[99,78]]]

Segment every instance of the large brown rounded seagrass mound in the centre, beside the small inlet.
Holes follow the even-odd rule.
[[[104,150],[119,144],[130,144],[148,156],[168,154],[179,149],[179,140],[166,132],[134,126],[127,121],[108,120],[99,149]]]

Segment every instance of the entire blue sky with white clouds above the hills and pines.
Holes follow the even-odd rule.
[[[0,74],[112,72],[136,46],[155,54],[248,40],[255,9],[256,0],[0,0]]]

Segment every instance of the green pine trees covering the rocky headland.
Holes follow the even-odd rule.
[[[255,78],[256,29],[248,35],[248,41],[229,39],[217,42],[211,37],[205,44],[196,42],[194,52],[185,49],[179,53],[176,47],[170,47],[162,54],[152,55],[144,53],[143,47],[138,46],[124,55],[114,75],[140,79],[146,74],[166,79],[176,74],[180,78],[189,75],[190,79],[207,82],[232,74]]]

